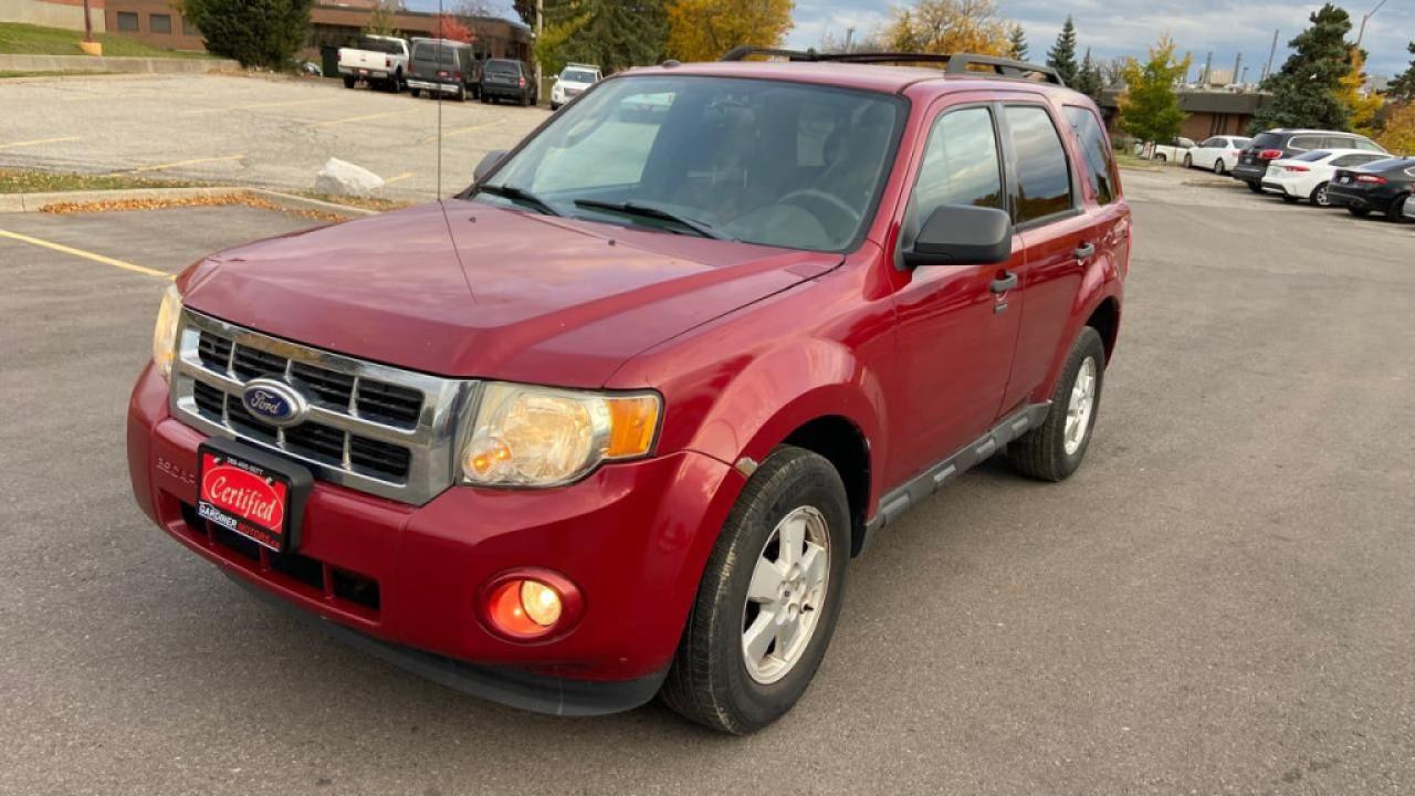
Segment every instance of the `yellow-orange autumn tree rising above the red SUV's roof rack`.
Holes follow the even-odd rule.
[[[899,52],[1012,52],[1007,24],[993,0],[917,0],[894,7],[880,38]]]

